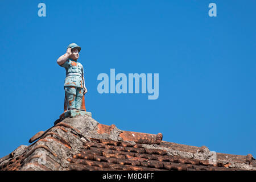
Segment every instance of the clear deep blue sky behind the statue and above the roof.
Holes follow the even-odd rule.
[[[46,17],[38,3],[46,3]],[[217,5],[209,17],[208,5]],[[256,1],[1,1],[0,157],[63,113],[69,43],[96,121],[256,156]],[[97,76],[159,73],[159,98],[99,94]]]

